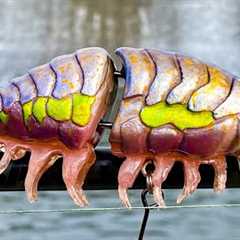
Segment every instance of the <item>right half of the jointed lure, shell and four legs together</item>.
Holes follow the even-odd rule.
[[[119,194],[130,206],[126,190],[149,159],[154,161],[154,197],[161,194],[175,161],[185,171],[181,202],[197,187],[201,163],[215,169],[214,188],[226,182],[225,155],[240,150],[240,80],[201,61],[158,50],[120,48],[126,85],[110,136],[115,155],[126,157],[119,172]]]

